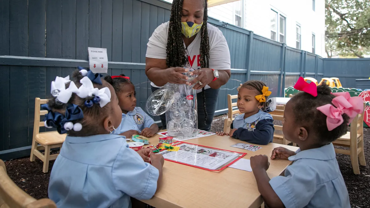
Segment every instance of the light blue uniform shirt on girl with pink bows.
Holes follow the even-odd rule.
[[[270,185],[286,208],[350,208],[349,195],[333,144],[300,151],[288,158],[294,161]]]

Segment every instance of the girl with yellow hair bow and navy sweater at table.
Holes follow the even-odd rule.
[[[229,133],[216,132],[216,134],[229,135],[253,144],[266,145],[272,142],[273,119],[270,114],[262,111],[271,94],[268,89],[262,81],[252,80],[244,83],[239,88],[237,101],[241,114],[235,117]]]

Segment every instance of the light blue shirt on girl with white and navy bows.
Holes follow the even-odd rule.
[[[129,208],[130,196],[153,197],[158,176],[124,136],[67,136],[51,171],[49,198],[58,208]]]

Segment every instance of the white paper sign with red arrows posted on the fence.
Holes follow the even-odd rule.
[[[94,73],[107,73],[108,71],[108,55],[107,48],[90,48],[89,64],[90,70]]]

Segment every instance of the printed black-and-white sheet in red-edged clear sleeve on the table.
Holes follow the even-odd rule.
[[[223,150],[213,150],[194,144],[179,144],[180,149],[174,151],[162,151],[157,154],[163,155],[167,160],[194,165],[209,170],[216,170],[222,165],[228,164],[239,157],[239,154]]]

